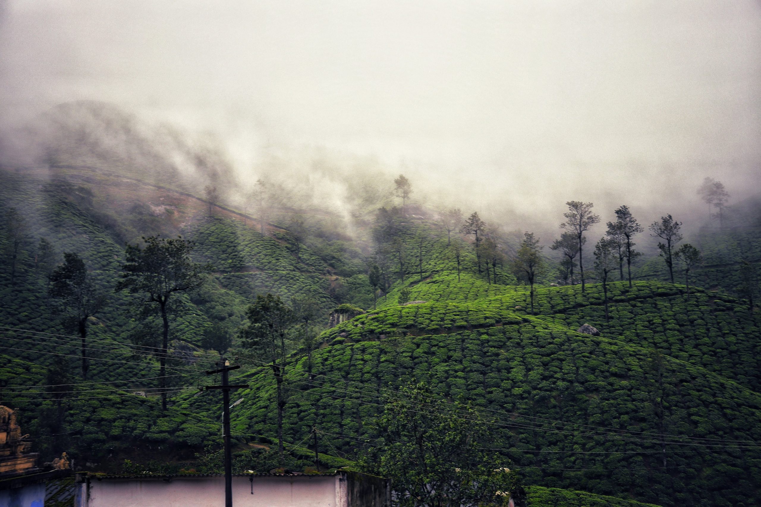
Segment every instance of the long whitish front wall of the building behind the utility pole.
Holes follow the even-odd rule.
[[[235,507],[345,507],[341,476],[233,477]],[[345,480],[340,481],[345,483]],[[76,507],[219,507],[224,477],[161,479],[91,478],[78,484]],[[343,489],[342,492],[339,490]],[[339,494],[343,498],[339,499]]]

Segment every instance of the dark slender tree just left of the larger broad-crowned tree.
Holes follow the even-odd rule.
[[[93,283],[84,261],[65,252],[63,263],[50,274],[49,294],[61,301],[65,312],[77,323],[81,340],[82,378],[88,378],[88,318],[103,307],[105,297]]]

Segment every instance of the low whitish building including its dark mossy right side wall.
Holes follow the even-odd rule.
[[[237,474],[235,507],[387,507],[390,484],[380,477],[332,474]],[[224,477],[187,474],[76,475],[75,507],[219,507]]]

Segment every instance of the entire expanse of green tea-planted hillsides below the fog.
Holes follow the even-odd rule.
[[[711,290],[727,285],[701,282],[688,297],[679,284],[615,282],[607,320],[600,285],[582,294],[578,286],[547,285],[548,278],[531,315],[527,287],[517,285],[505,258],[479,272],[473,248],[454,234],[458,269],[457,248],[447,247],[432,212],[358,215],[353,236],[337,231],[330,216],[315,219],[297,255],[288,223],[300,212],[281,210],[261,234],[255,217],[236,209],[217,206],[209,216],[209,202],[178,174],[95,167],[66,160],[49,170],[0,172],[0,213],[18,209],[26,232],[12,284],[10,238],[5,230],[0,236],[0,392],[20,410],[24,429],[40,435],[36,450],[46,456],[65,448],[75,460],[108,467],[213,452],[220,400],[196,387],[212,381],[203,371],[218,356],[201,349],[201,336],[212,324],[234,331],[249,301],[272,292],[286,302],[309,296],[321,308],[311,366],[301,327],[288,336],[284,439],[295,448],[317,426],[336,460],[353,461],[377,437],[384,396],[416,378],[494,419],[495,448],[520,470],[529,505],[761,505],[761,322],[745,301]],[[214,266],[201,289],[176,300],[169,368],[176,391],[166,413],[155,394],[154,349],[145,346],[156,334],[154,318],[139,314],[132,296],[113,292],[123,244],[144,234],[183,234],[196,241],[196,259]],[[753,231],[743,234],[755,244]],[[75,333],[46,295],[46,272],[35,260],[40,238],[56,248],[56,262],[64,251],[80,253],[110,294],[90,320],[88,383],[78,377]],[[706,257],[724,244],[711,238]],[[510,250],[511,241],[502,238],[501,248]],[[658,262],[646,261],[639,273]],[[382,270],[377,301],[370,266]],[[366,312],[326,329],[341,303]],[[600,336],[578,333],[581,324]],[[229,359],[243,365],[231,381],[251,386],[233,397],[236,441],[271,442],[269,370],[237,338]],[[56,368],[68,371],[72,394],[44,387],[59,384],[48,380]]]

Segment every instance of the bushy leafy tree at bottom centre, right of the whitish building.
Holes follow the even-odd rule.
[[[463,403],[438,400],[425,384],[390,396],[378,418],[380,448],[365,451],[360,467],[389,477],[400,507],[523,505],[517,474],[489,448],[492,421]]]

